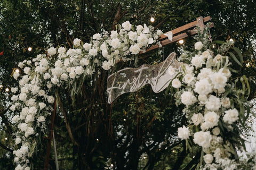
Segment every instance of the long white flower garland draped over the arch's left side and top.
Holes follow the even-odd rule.
[[[28,146],[35,142],[38,133],[44,133],[46,129],[46,117],[51,114],[55,100],[51,89],[62,83],[72,84],[74,79],[91,75],[96,69],[109,70],[117,61],[133,60],[134,55],[145,52],[149,45],[159,44],[157,39],[163,33],[160,30],[152,33],[153,27],[146,24],[133,30],[129,21],[119,25],[118,30],[110,34],[106,31],[96,33],[90,44],[76,38],[74,48],[50,47],[47,49],[49,58],[40,54],[32,61],[19,63],[25,74],[22,77],[20,73],[13,75],[14,79],[20,79],[19,89],[11,89],[13,104],[10,107],[12,112],[19,112],[12,117],[19,129],[15,133],[15,143],[21,144],[20,149],[13,151],[18,165],[15,170],[29,170],[28,158],[35,150]]]

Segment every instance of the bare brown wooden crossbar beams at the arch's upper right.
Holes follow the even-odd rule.
[[[175,43],[183,38],[196,35],[196,33],[197,33],[197,30],[195,29],[196,25],[198,25],[201,28],[201,30],[204,30],[204,27],[205,27],[204,22],[209,22],[209,21],[211,21],[210,16],[206,16],[205,18],[203,18],[203,16],[200,16],[194,22],[190,22],[186,25],[183,25],[179,28],[175,28],[175,29],[169,31],[169,32],[172,32],[172,35],[173,35],[172,40],[168,39],[167,36],[165,36],[165,34],[169,33],[169,32],[163,33],[160,36],[160,41],[161,41],[162,46],[166,46],[171,43]],[[212,28],[212,27],[214,27],[213,22],[211,22],[211,24],[210,24],[210,28]],[[148,48],[145,53],[148,53],[151,50],[156,49],[156,48],[159,48],[159,46],[157,44]],[[140,54],[145,54],[145,53],[140,52]]]

